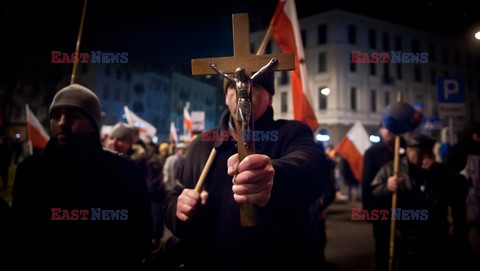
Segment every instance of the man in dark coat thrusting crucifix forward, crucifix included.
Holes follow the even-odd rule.
[[[213,142],[199,136],[191,143],[182,186],[167,196],[166,224],[187,250],[187,270],[303,270],[315,253],[309,250],[308,208],[331,178],[326,157],[308,126],[273,120],[271,70],[292,69],[293,57],[251,55],[247,14],[233,16],[233,30],[234,56],[193,60],[192,71],[230,78],[224,83],[228,110],[216,129],[237,137]],[[250,96],[239,94],[244,90]],[[252,114],[239,113],[241,106],[253,108]],[[278,140],[244,138],[240,130],[249,119],[256,131],[278,132]],[[242,204],[253,206],[253,223],[243,223]]]

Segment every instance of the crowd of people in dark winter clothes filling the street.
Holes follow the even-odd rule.
[[[256,153],[242,161],[235,138],[157,145],[124,123],[101,136],[94,92],[78,84],[61,89],[49,110],[51,139],[41,153],[18,164],[13,202],[1,205],[2,221],[9,221],[2,231],[12,234],[0,255],[17,266],[34,261],[162,270],[321,270],[335,163],[308,126],[273,119],[273,73],[262,76],[253,85],[255,129],[278,131],[278,140],[256,142]],[[235,91],[233,83],[225,84],[227,110],[215,128],[219,134],[235,129]],[[430,136],[402,139],[398,175],[392,163],[395,135],[385,127],[380,135],[382,141],[364,155],[362,180],[350,181],[360,183],[363,209],[389,210],[397,193],[397,208],[428,211],[425,221],[397,223],[397,270],[465,262],[468,232],[479,230],[480,126],[450,149],[444,163],[435,160]],[[6,187],[4,165],[12,155],[7,157],[1,140]],[[196,190],[212,149],[216,157],[203,189]],[[342,171],[352,175],[348,163]],[[256,226],[241,226],[244,203],[253,205]],[[167,244],[161,242],[164,225],[173,233]],[[390,220],[373,222],[377,270],[388,267],[389,233]]]

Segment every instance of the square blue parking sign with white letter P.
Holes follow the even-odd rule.
[[[440,103],[464,103],[465,83],[461,76],[438,77],[438,101]]]

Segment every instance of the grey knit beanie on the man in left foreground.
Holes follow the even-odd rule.
[[[49,115],[51,116],[52,110],[60,107],[73,107],[80,109],[93,123],[97,131],[100,131],[102,127],[102,116],[100,109],[100,101],[97,95],[90,89],[79,85],[72,84],[61,89],[55,97],[53,97],[52,104],[50,105]]]

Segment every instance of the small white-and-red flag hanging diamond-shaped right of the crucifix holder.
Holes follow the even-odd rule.
[[[363,155],[372,145],[363,125],[356,121],[342,141],[335,147],[335,153],[347,160],[355,179],[362,179]]]

